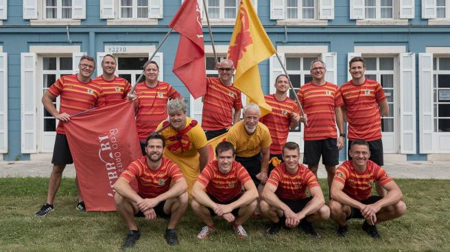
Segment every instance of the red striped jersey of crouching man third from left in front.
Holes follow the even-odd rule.
[[[275,194],[280,199],[305,199],[306,188],[320,186],[314,173],[303,164],[298,164],[298,171],[290,174],[286,171],[286,164],[281,163],[270,173],[268,183],[276,186]]]

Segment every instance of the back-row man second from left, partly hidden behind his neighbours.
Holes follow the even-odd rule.
[[[114,75],[116,66],[117,62],[114,55],[104,55],[102,60],[103,73],[93,79],[95,83],[99,84],[99,86],[103,88],[105,105],[110,105],[126,99],[128,92],[131,90],[130,82]],[[132,98],[134,97],[135,96]]]

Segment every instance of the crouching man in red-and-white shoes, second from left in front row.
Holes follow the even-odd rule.
[[[246,168],[235,161],[233,144],[220,142],[215,155],[217,160],[205,166],[192,188],[192,210],[206,224],[197,237],[204,239],[209,236],[214,230],[211,215],[218,215],[233,223],[237,236],[244,238],[247,233],[242,224],[252,216],[257,206],[258,190]]]

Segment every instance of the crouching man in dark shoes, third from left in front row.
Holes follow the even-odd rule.
[[[272,222],[267,234],[278,233],[283,224],[288,228],[300,224],[307,234],[320,238],[311,223],[329,218],[330,210],[325,205],[316,176],[298,160],[300,147],[295,142],[286,142],[283,146],[284,163],[270,173],[259,207],[261,214]],[[311,197],[306,197],[307,188]]]

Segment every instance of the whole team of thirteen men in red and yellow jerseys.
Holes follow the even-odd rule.
[[[379,238],[375,224],[405,213],[401,190],[381,168],[381,116],[388,114],[388,104],[381,85],[364,77],[363,58],[350,60],[352,79],[340,88],[325,81],[324,62],[313,61],[312,81],[297,94],[305,114],[287,97],[287,75],[279,75],[276,92],[265,96],[272,112],[262,117],[258,105],[243,107],[241,92],[232,83],[233,62],[223,60],[216,64],[219,77],[207,78],[201,126],[187,117],[180,94],[158,81],[156,62],[144,64],[145,80],[132,93],[130,83],[115,76],[116,65],[113,55],[105,55],[103,74],[91,79],[95,62],[84,56],[80,73],[60,77],[43,95],[45,109],[59,123],[47,201],[36,216],[54,211],[62,171],[73,162],[64,123],[73,114],[123,99],[135,105],[143,154],[114,185],[117,212],[129,230],[123,248],[134,246],[141,235],[135,216],[168,218],[164,238],[170,245],[178,244],[175,227],[189,204],[205,224],[200,239],[215,229],[213,216],[221,216],[233,225],[237,236],[246,237],[242,225],[257,208],[272,223],[267,234],[276,234],[283,226],[298,226],[317,238],[320,234],[312,223],[330,217],[340,236],[348,230],[346,220],[362,218],[362,229]],[[53,103],[58,96],[60,110]],[[336,168],[346,137],[344,117],[350,160]],[[307,167],[300,164],[298,144],[287,142],[289,129],[300,122],[305,123],[303,163]],[[215,148],[216,159],[208,163],[207,141],[225,133],[226,139]],[[317,179],[321,157],[328,174],[329,205]],[[130,186],[134,179],[137,191]],[[371,196],[372,186],[377,186],[379,196]],[[84,210],[78,192],[76,209]]]

